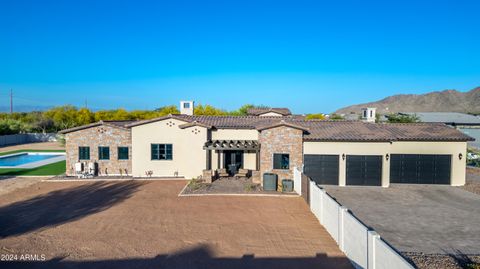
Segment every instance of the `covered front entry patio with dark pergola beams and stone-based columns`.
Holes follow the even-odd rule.
[[[252,177],[260,180],[260,144],[257,140],[209,140],[204,147],[206,165],[203,177]]]

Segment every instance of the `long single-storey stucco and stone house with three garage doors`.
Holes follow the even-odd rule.
[[[189,103],[193,110],[193,103]],[[95,161],[101,175],[203,177],[219,169],[319,184],[388,187],[390,183],[465,184],[467,141],[443,123],[385,124],[305,120],[269,109],[248,116],[168,115],[101,121],[62,131],[67,175]],[[273,113],[273,114],[272,114]]]

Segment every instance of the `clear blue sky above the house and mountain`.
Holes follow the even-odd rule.
[[[0,107],[331,112],[480,86],[480,1],[0,2]]]

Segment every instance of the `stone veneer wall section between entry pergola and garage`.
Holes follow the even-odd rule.
[[[274,173],[278,175],[278,187],[281,190],[282,179],[293,179],[293,168],[303,163],[303,131],[287,126],[266,129],[260,132],[260,175]],[[290,169],[273,169],[273,154],[290,154]],[[263,179],[261,180],[263,184]]]

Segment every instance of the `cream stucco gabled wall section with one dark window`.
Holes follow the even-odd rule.
[[[207,129],[194,126],[178,128],[185,122],[165,119],[132,127],[133,175],[145,177],[146,171],[153,176],[196,178],[206,168]],[[151,144],[172,144],[173,160],[151,160]]]

